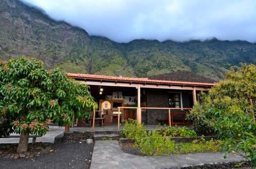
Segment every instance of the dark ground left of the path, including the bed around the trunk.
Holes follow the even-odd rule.
[[[17,144],[0,145],[0,168],[90,168],[93,144],[86,142],[29,144],[28,152],[15,159]]]

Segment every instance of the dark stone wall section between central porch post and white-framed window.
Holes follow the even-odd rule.
[[[147,107],[169,107],[168,90],[151,89],[147,92]],[[161,109],[147,109],[147,123],[158,124],[157,119],[167,119],[168,111]],[[143,120],[142,120],[143,121]]]

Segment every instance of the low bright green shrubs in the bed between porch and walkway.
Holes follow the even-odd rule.
[[[171,140],[173,136],[195,137],[196,133],[188,128],[166,128],[161,130],[146,131],[143,124],[136,120],[127,120],[122,133],[126,138],[135,142],[141,153],[152,155],[169,155],[180,153],[212,152],[220,150],[219,140],[201,141],[195,140],[192,143],[175,143]]]

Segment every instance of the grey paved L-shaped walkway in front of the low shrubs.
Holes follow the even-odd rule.
[[[214,164],[241,161],[242,157],[229,155],[227,159],[220,153],[195,153],[169,156],[136,156],[124,153],[118,141],[95,141],[91,169],[100,168],[171,168],[191,165]]]

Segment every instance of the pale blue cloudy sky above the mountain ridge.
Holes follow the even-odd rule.
[[[149,40],[256,42],[255,0],[22,0],[54,20],[118,43]]]

